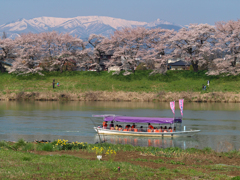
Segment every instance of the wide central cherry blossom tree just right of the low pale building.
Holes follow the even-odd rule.
[[[101,44],[101,48],[105,52],[113,52],[108,66],[121,65],[125,70],[124,75],[130,74],[128,69],[134,73],[137,62],[143,61],[146,49],[149,48],[146,41],[148,36],[149,30],[144,27],[116,30],[110,38],[105,39]]]

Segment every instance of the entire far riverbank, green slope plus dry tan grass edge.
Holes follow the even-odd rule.
[[[108,100],[108,101],[186,101],[240,102],[240,76],[207,76],[205,71],[168,71],[149,76],[136,71],[130,76],[97,72],[51,72],[45,76],[0,74],[1,100]],[[52,88],[52,80],[60,87]],[[202,85],[210,80],[205,91]]]

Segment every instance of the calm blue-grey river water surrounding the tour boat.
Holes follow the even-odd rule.
[[[95,143],[93,114],[172,117],[169,103],[147,102],[5,102],[0,101],[0,140],[27,141],[67,139]],[[178,106],[176,116],[180,116]],[[185,103],[183,125],[200,129],[193,137],[102,136],[109,143],[138,146],[204,148],[216,151],[240,149],[240,104]],[[92,122],[93,120],[93,122]]]

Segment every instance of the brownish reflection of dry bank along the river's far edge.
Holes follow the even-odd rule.
[[[0,111],[4,109],[12,110],[35,110],[36,108],[41,110],[105,110],[105,109],[161,109],[169,110],[168,102],[105,102],[105,101],[71,101],[71,102],[52,102],[52,101],[12,101],[5,102],[0,101]],[[176,107],[176,111],[178,110]],[[194,103],[185,102],[184,110],[195,110],[195,111],[239,111],[240,103]]]

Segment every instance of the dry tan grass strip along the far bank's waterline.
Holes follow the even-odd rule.
[[[184,99],[186,102],[234,102],[240,103],[240,94],[232,92],[124,92],[124,91],[87,91],[87,92],[19,92],[0,93],[1,101],[131,101],[131,102],[168,102]]]

